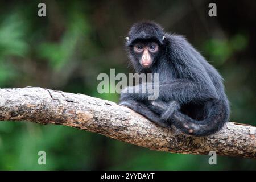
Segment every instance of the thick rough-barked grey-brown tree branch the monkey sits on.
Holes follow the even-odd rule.
[[[228,122],[208,137],[156,126],[114,102],[43,88],[0,89],[0,121],[31,121],[88,130],[151,150],[256,159],[256,127]]]

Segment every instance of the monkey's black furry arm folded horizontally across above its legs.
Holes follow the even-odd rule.
[[[144,88],[143,88],[144,87]],[[134,90],[147,90],[154,87],[154,84],[143,83],[133,87],[128,87],[122,91],[123,98],[133,98],[133,100],[144,101],[148,100],[148,92],[146,93],[131,93]],[[176,79],[164,84],[159,84],[158,89],[159,99],[164,102],[179,101],[181,104],[186,104],[192,101],[205,101],[217,97],[215,88],[208,84],[196,83],[188,79]],[[127,93],[126,93],[127,92]],[[153,100],[152,100],[153,101]],[[163,103],[162,103],[163,104]]]

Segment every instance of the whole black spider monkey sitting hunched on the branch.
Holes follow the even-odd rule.
[[[137,23],[126,48],[135,72],[159,74],[159,97],[148,100],[147,93],[129,92],[146,86],[141,83],[122,91],[121,105],[195,136],[215,133],[228,121],[222,77],[183,36],[168,34],[154,22]]]

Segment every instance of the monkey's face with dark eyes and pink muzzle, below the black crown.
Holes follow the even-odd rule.
[[[150,68],[159,54],[159,46],[155,42],[142,43],[138,42],[133,45],[135,60],[143,68]]]

